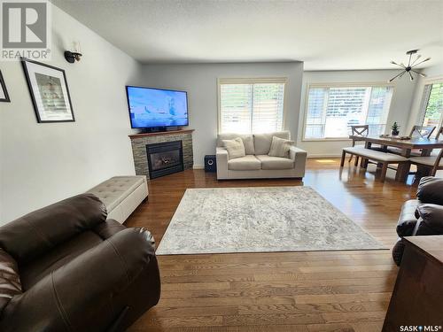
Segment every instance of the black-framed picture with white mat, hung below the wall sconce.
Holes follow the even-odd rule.
[[[34,66],[34,69],[31,70],[28,66]],[[73,104],[71,102],[71,95],[69,94],[69,88],[67,86],[67,80],[66,80],[66,73],[65,70],[55,67],[43,64],[41,62],[37,62],[35,60],[30,60],[28,58],[21,58],[21,65],[23,66],[23,71],[25,72],[25,76],[27,79],[27,88],[29,89],[29,93],[31,95],[32,103],[34,105],[34,111],[35,116],[37,118],[38,123],[53,123],[53,122],[74,122],[74,109]],[[58,81],[58,85],[56,86],[53,84],[53,86],[56,86],[58,88],[58,93],[60,96],[57,95],[57,93],[54,93],[56,98],[53,97],[47,97],[47,99],[52,103],[54,103],[52,106],[56,108],[54,100],[56,100],[58,103],[62,101],[64,106],[66,107],[66,110],[60,112],[59,104],[58,109],[55,112],[54,110],[48,111],[44,109],[44,101],[43,96],[44,93],[42,92],[43,86],[40,86],[35,84],[36,81],[36,73],[38,73],[38,69],[41,70],[41,73],[39,73],[42,77],[51,77],[51,79],[55,79],[55,81]],[[45,73],[46,72],[46,73]],[[51,72],[54,75],[50,76],[47,72]],[[58,74],[58,75],[57,75]],[[37,92],[40,92],[38,95]],[[35,96],[37,94],[37,96]],[[40,106],[40,107],[39,107]],[[41,108],[43,106],[43,109]],[[59,113],[59,114],[58,114]]]

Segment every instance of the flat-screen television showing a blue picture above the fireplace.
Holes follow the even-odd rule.
[[[126,87],[131,127],[188,126],[185,91]]]

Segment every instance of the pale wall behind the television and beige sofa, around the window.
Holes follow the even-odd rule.
[[[215,153],[217,135],[217,78],[287,77],[285,127],[297,137],[303,64],[198,64],[144,66],[145,86],[188,91],[194,165],[203,166],[206,154]]]

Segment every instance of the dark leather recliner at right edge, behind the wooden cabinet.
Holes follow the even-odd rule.
[[[401,208],[392,259],[400,266],[404,251],[403,236],[443,235],[443,179],[426,176],[418,184],[417,199],[410,199]]]

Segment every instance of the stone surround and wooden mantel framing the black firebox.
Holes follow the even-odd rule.
[[[152,143],[165,143],[182,141],[183,144],[183,167],[192,168],[192,132],[194,129],[171,130],[157,133],[144,133],[129,135],[132,146],[132,155],[134,157],[134,166],[137,175],[145,175],[149,179],[148,156],[146,154],[146,145]]]

